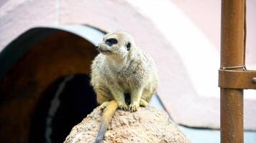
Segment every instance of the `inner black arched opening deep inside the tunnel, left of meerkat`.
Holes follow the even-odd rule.
[[[32,117],[30,142],[64,142],[70,130],[97,106],[86,74],[62,77],[43,92]]]

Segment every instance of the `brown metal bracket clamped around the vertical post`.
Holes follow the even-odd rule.
[[[219,87],[225,89],[256,89],[256,71],[219,69]]]

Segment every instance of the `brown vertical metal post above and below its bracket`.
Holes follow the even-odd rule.
[[[221,1],[221,69],[243,70],[244,0]],[[243,89],[221,88],[221,143],[244,142]]]

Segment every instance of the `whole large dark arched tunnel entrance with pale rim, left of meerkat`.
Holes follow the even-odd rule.
[[[91,26],[35,28],[0,53],[1,142],[63,142],[97,106],[90,86]]]

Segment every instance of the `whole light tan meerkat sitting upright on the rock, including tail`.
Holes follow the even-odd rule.
[[[91,85],[100,109],[104,109],[96,138],[102,142],[116,109],[135,112],[146,107],[155,94],[158,77],[155,62],[124,31],[106,34],[97,49],[100,54],[91,64]],[[129,105],[126,94],[130,94]]]

